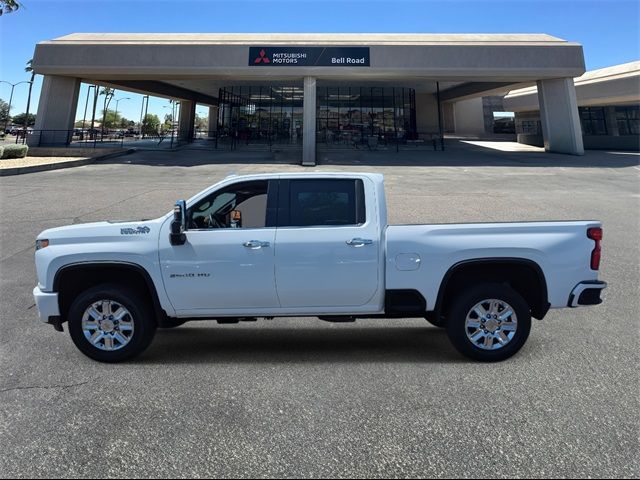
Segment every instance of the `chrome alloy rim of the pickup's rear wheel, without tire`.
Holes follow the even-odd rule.
[[[475,304],[465,321],[467,337],[483,350],[499,350],[508,345],[518,329],[514,309],[504,300],[495,298]]]

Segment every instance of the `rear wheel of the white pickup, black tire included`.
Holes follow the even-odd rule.
[[[447,335],[464,356],[499,362],[515,355],[529,338],[527,302],[507,285],[487,283],[464,290],[449,308]]]

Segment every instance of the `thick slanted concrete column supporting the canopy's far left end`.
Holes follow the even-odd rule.
[[[78,107],[80,79],[45,75],[33,135],[27,136],[30,146],[68,145]]]

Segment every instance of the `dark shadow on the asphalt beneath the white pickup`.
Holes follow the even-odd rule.
[[[137,360],[171,363],[467,363],[444,330],[434,327],[260,328],[234,326],[158,330]]]

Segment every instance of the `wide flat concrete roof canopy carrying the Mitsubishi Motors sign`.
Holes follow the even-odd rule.
[[[252,47],[364,47],[366,66],[256,65]],[[363,48],[363,51],[364,51]],[[36,45],[33,68],[85,82],[211,101],[236,82],[384,83],[455,95],[504,91],[539,79],[584,73],[582,46],[536,34],[430,33],[72,33]],[[461,91],[452,91],[461,83]],[[241,84],[241,83],[240,83]],[[448,92],[445,90],[448,89]],[[472,91],[470,91],[470,89]]]

